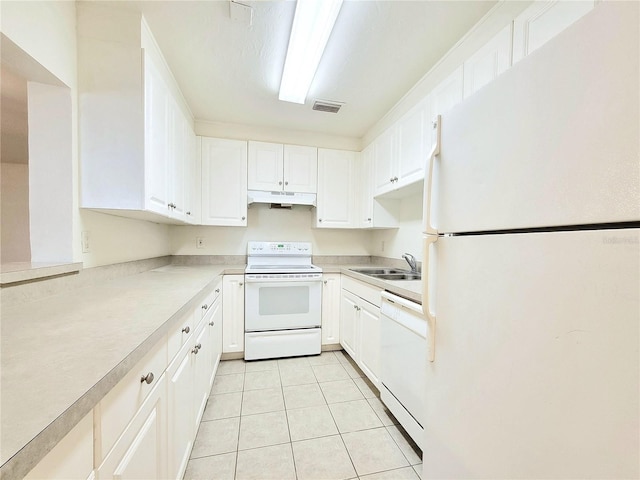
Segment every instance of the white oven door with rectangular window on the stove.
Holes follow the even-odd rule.
[[[320,326],[322,277],[245,276],[245,330],[261,332]],[[308,277],[308,276],[307,276]]]

